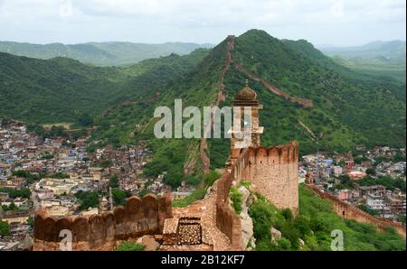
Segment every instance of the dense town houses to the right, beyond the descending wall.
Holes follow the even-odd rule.
[[[314,184],[378,218],[405,225],[405,148],[361,146],[355,153],[317,153],[302,157],[299,181]]]

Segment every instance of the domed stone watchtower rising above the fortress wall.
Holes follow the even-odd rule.
[[[241,88],[233,102],[232,160],[237,159],[244,148],[259,147],[260,135],[264,131],[264,127],[259,126],[259,110],[262,106],[257,93],[248,84],[246,79],[246,86]]]

